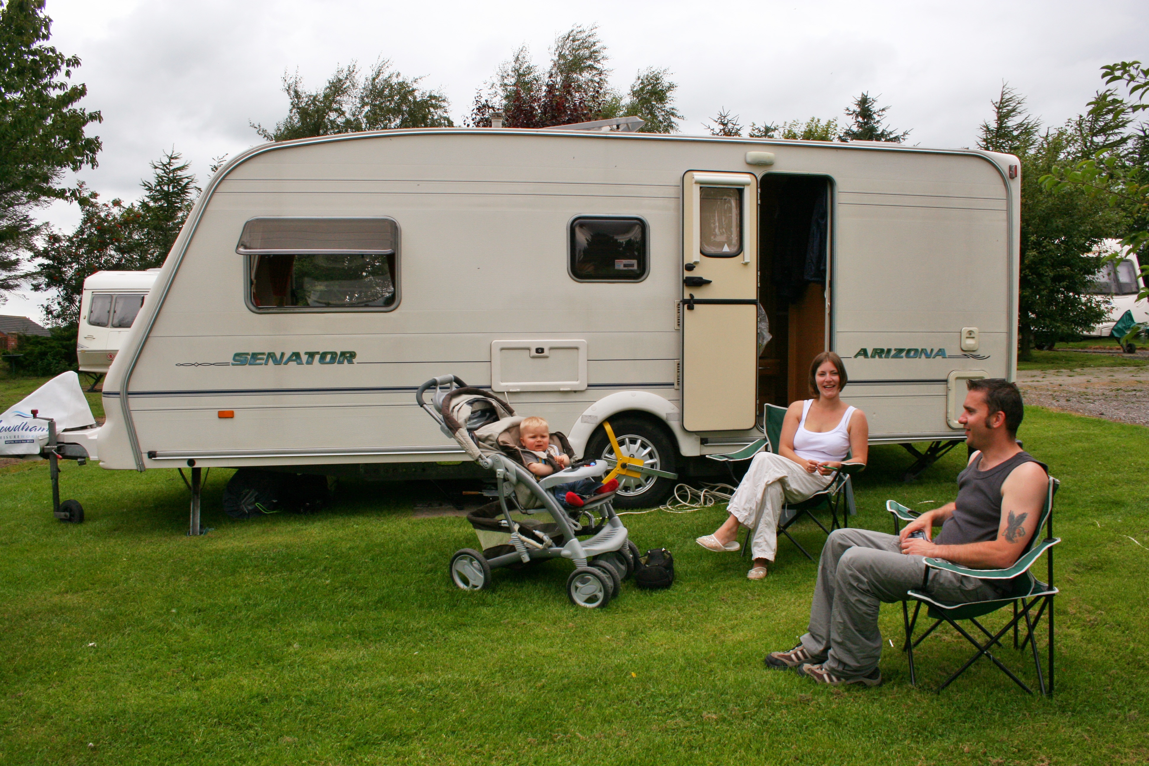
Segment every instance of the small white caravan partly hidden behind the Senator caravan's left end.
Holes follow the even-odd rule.
[[[159,273],[159,269],[97,271],[84,280],[76,335],[80,372],[108,371]]]

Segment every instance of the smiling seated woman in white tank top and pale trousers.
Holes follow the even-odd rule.
[[[841,400],[846,365],[833,351],[823,351],[810,365],[813,399],[794,402],[786,411],[782,434],[774,452],[759,452],[750,463],[726,510],[730,517],[714,534],[697,539],[712,551],[740,548],[740,527],[754,529],[750,554],[751,580],[766,577],[766,566],[778,549],[778,516],[782,506],[825,489],[833,470],[850,455],[850,463],[865,464],[870,426],[865,412]]]

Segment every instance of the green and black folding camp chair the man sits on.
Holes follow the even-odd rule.
[[[938,691],[941,691],[950,684],[958,675],[964,673],[973,663],[976,663],[982,655],[993,660],[994,665],[1000,667],[1005,675],[1010,676],[1015,683],[1019,687],[1033,694],[1033,689],[1025,684],[1021,679],[1013,674],[1005,665],[993,655],[989,650],[996,644],[1001,647],[1001,639],[1008,632],[1013,630],[1013,648],[1024,650],[1026,644],[1030,644],[1030,649],[1033,653],[1033,666],[1038,673],[1038,686],[1041,689],[1041,694],[1046,696],[1054,695],[1054,596],[1057,595],[1057,588],[1054,587],[1054,551],[1052,547],[1061,542],[1059,537],[1054,537],[1054,495],[1057,493],[1057,488],[1061,482],[1057,479],[1050,477],[1049,488],[1046,493],[1046,504],[1041,510],[1041,517],[1038,519],[1038,526],[1033,531],[1033,535],[1030,537],[1028,544],[1025,547],[1025,551],[1021,557],[1017,559],[1013,566],[1004,570],[971,570],[966,566],[959,566],[957,564],[950,564],[949,562],[942,560],[940,558],[926,558],[926,571],[925,577],[921,581],[920,590],[910,590],[909,597],[915,603],[913,616],[909,614],[908,602],[902,602],[902,621],[905,626],[905,643],[902,645],[902,651],[905,652],[909,664],[910,664],[910,683],[917,684],[917,678],[915,676],[913,670],[913,650],[917,648],[921,641],[934,632],[934,629],[941,625],[943,621],[948,622],[954,627],[955,630],[961,633],[966,641],[974,645],[978,650],[973,657],[969,659],[956,673],[946,679],[946,682],[938,687]],[[894,501],[886,502],[886,510],[894,516],[894,533],[897,534],[901,531],[901,521],[912,521],[919,513],[915,513],[904,505],[900,505]],[[1046,536],[1042,540],[1038,540],[1041,527],[1046,527]],[[1038,580],[1030,572],[1030,567],[1033,566],[1034,562],[1046,555],[1048,564],[1048,579],[1049,582],[1042,582]],[[1021,587],[1010,596],[1002,598],[993,598],[989,601],[979,601],[967,604],[947,604],[938,601],[926,591],[926,581],[930,578],[931,570],[946,570],[948,572],[956,572],[957,574],[964,574],[971,578],[979,578],[981,580],[1011,580],[1017,577],[1021,577]],[[918,611],[921,609],[921,604],[926,605],[926,614],[934,620],[934,624],[930,626],[925,633],[913,639],[913,628],[918,621]],[[1013,618],[1005,624],[997,633],[990,633],[981,622],[978,621],[979,617],[984,617],[992,612],[996,612],[998,609],[1004,606],[1013,608]],[[1036,606],[1036,610],[1034,608]],[[1041,667],[1041,655],[1038,651],[1038,626],[1041,622],[1041,618],[1046,618],[1046,625],[1049,632],[1048,640],[1048,664],[1049,668],[1047,673],[1042,672]],[[1021,641],[1020,647],[1018,645],[1018,625],[1021,620],[1025,620],[1025,639]],[[978,630],[980,630],[987,639],[986,643],[980,643],[974,639],[967,630],[965,630],[958,621],[970,621]]]

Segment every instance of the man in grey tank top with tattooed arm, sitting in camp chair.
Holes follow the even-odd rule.
[[[809,632],[789,651],[774,651],[766,665],[794,668],[818,683],[881,683],[878,660],[882,602],[921,589],[925,557],[971,568],[1012,566],[1033,536],[1046,500],[1046,465],[1017,444],[1024,409],[1017,386],[1001,379],[970,380],[958,420],[977,450],[957,478],[957,500],[923,513],[901,535],[835,529],[822,549]],[[941,533],[933,537],[933,527]],[[910,536],[915,532],[924,537]],[[939,601],[966,603],[1001,598],[1012,581],[997,582],[930,570],[925,589]]]

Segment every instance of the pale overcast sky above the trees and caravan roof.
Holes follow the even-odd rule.
[[[869,91],[910,144],[972,146],[1003,80],[1057,124],[1100,87],[1098,67],[1149,59],[1144,0],[48,0],[47,13],[52,45],[83,60],[84,106],[103,114],[100,167],[79,177],[125,200],[165,149],[202,184],[211,157],[261,142],[248,122],[284,117],[285,70],[319,87],[338,64],[383,56],[441,88],[457,123],[516,47],[545,62],[572,24],[599,24],[620,90],[669,68],[684,133],[720,108],[743,124],[841,117]],[[79,216],[60,204],[44,217],[70,229]],[[10,295],[0,314],[40,319],[40,299]]]

